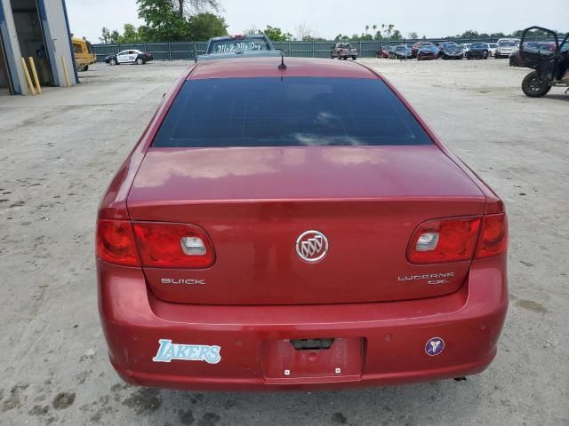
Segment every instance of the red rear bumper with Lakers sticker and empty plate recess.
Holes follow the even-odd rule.
[[[453,378],[483,371],[496,354],[508,306],[504,262],[500,257],[476,261],[459,291],[430,299],[378,304],[207,306],[159,301],[148,292],[140,270],[98,261],[100,318],[118,375],[143,386],[331,389]],[[348,366],[349,375],[334,375],[333,371],[286,375],[286,361],[268,357],[271,343],[324,337],[361,342],[361,359],[357,359],[357,367]],[[445,342],[437,356],[425,351],[433,337]],[[220,360],[155,362],[161,339],[219,346]],[[269,376],[269,364],[273,373],[275,364],[277,372],[282,368],[282,377]]]

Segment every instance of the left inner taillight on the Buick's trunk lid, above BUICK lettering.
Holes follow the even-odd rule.
[[[132,227],[143,266],[207,268],[215,262],[212,241],[197,226],[135,223]]]

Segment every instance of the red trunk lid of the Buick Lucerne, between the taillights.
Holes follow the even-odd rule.
[[[185,304],[445,295],[470,262],[410,264],[413,231],[484,209],[484,194],[437,146],[151,148],[128,198],[133,222],[197,225],[211,238],[207,269],[144,268],[157,297]],[[316,263],[296,250],[307,231],[328,242]]]

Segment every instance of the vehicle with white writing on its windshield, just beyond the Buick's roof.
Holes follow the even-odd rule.
[[[239,34],[212,37],[207,42],[205,53],[196,56],[196,62],[211,59],[279,57],[273,43],[264,34]]]

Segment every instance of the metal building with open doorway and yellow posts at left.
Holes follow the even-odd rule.
[[[77,83],[65,0],[0,0],[0,94],[30,92],[21,63],[32,75],[29,57],[40,85]]]

